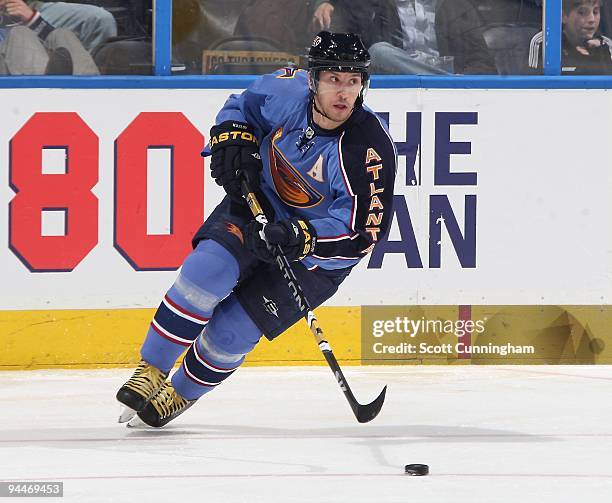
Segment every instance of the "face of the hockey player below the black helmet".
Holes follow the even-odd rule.
[[[315,122],[325,129],[340,126],[351,116],[360,92],[361,74],[322,71],[315,100],[327,117],[315,112]]]

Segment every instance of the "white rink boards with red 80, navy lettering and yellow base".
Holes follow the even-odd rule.
[[[0,366],[44,365],[24,340],[49,334],[64,348],[49,365],[137,357],[223,197],[200,151],[231,92],[3,92]],[[398,172],[389,235],[321,308],[346,359],[612,361],[608,95],[370,90]],[[292,351],[310,362],[316,347]]]

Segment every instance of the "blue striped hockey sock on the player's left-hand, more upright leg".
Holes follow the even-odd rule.
[[[142,358],[169,372],[206,327],[219,303],[238,281],[236,259],[212,240],[201,241],[157,308],[141,348]]]

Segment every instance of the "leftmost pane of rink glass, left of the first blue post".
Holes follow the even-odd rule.
[[[38,37],[34,31],[11,30],[27,26],[27,20],[0,9],[0,77],[17,75],[153,75],[153,0],[24,0],[56,30],[76,35],[76,49],[66,58],[53,59],[64,39]],[[36,29],[37,18],[33,19]],[[55,30],[54,30],[55,31]],[[31,36],[29,36],[29,34]],[[51,32],[53,34],[53,32]],[[85,51],[83,55],[79,51]],[[37,54],[28,58],[23,52]],[[89,56],[85,56],[88,53]],[[45,55],[46,54],[46,55]],[[83,63],[76,60],[86,58]],[[29,62],[26,64],[26,62]]]

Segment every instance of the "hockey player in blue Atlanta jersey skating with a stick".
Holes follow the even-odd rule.
[[[147,425],[164,426],[229,377],[262,334],[272,340],[303,316],[262,229],[315,307],[382,239],[396,152],[363,106],[369,63],[357,35],[321,32],[307,72],[279,70],[229,97],[202,153],[227,195],[196,233],[142,361],[117,393],[126,407],[120,421],[137,412]],[[253,220],[243,179],[267,207],[268,225]]]

